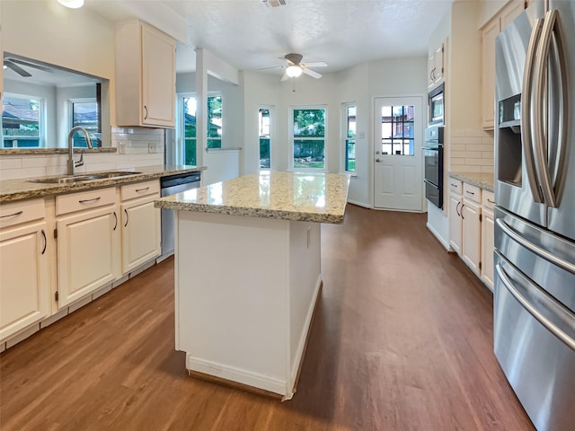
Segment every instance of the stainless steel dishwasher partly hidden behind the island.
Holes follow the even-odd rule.
[[[182,191],[198,189],[201,175],[199,172],[176,173],[160,179],[161,195],[175,195]],[[162,255],[156,259],[160,262],[173,255],[175,225],[173,209],[162,208]]]

